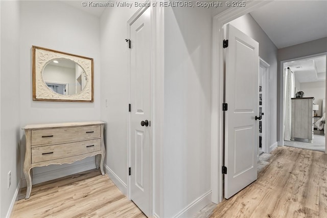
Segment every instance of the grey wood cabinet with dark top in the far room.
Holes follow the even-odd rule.
[[[312,142],[313,97],[292,98],[291,140]]]

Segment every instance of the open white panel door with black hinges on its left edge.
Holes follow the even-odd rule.
[[[231,25],[226,28],[225,198],[257,178],[259,139],[259,43]]]

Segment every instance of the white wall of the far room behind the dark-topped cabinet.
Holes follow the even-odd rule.
[[[319,105],[318,116],[322,116],[322,99],[325,98],[325,88],[326,81],[301,83],[301,91],[305,93],[305,97],[314,97],[313,103]]]

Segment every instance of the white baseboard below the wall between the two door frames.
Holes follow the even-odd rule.
[[[199,212],[203,207],[211,203],[211,194],[212,190],[204,193],[198,199],[193,201],[187,207],[185,207],[182,211],[174,215],[174,217],[192,217],[197,212]]]

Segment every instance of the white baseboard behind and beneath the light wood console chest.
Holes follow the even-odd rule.
[[[58,179],[61,177],[66,177],[69,175],[73,175],[75,173],[83,172],[83,171],[94,169],[94,168],[96,168],[95,161],[89,161],[89,162],[76,164],[76,165],[68,165],[67,167],[63,167],[60,169],[37,173],[37,174],[33,175],[32,184],[34,185],[34,184]],[[22,184],[21,187],[27,186],[25,178],[21,179],[21,184]]]

